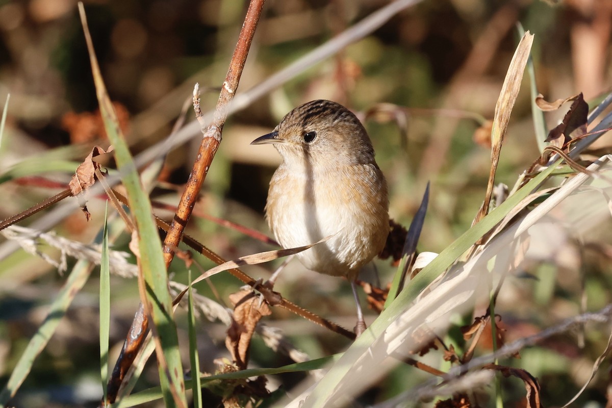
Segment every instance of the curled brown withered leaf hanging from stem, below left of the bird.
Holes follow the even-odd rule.
[[[238,368],[245,369],[255,327],[261,317],[268,316],[272,312],[267,303],[250,289],[231,294],[230,301],[234,305],[234,313],[228,328],[228,335],[225,338],[225,346]]]

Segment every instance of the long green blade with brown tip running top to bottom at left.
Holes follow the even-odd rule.
[[[139,266],[146,284],[146,291],[144,291],[146,299],[141,300],[144,302],[145,310],[151,313],[152,322],[155,325],[154,332],[159,341],[157,343],[159,348],[156,347],[156,352],[164,401],[166,406],[186,407],[181,355],[172,313],[172,299],[168,290],[168,275],[163,260],[162,242],[152,216],[151,202],[144,193],[129,147],[119,127],[117,114],[108,97],[81,2],[79,12],[106,135],[113,143],[115,158],[127,190],[130,210],[136,221],[138,251],[140,252]]]

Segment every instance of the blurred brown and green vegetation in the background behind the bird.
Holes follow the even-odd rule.
[[[268,0],[238,92],[260,83],[388,2]],[[85,6],[102,75],[135,154],[170,133],[196,81],[204,90],[203,108],[214,107],[247,1],[95,0],[86,1]],[[486,121],[493,117],[515,50],[517,22],[535,34],[532,57],[537,86],[548,100],[578,92],[591,100],[609,89],[612,2],[424,0],[231,116],[196,211],[269,234],[263,208],[267,183],[280,157],[272,148],[264,150],[248,143],[270,132],[294,106],[327,98],[364,118],[389,182],[392,218],[408,226],[425,184],[431,181],[430,207],[419,250],[441,251],[469,228],[482,203],[490,166]],[[9,175],[0,184],[0,218],[4,218],[59,191],[41,184],[40,179],[19,176],[44,176],[65,184],[72,172],[62,170],[59,162],[78,163],[94,144],[106,146],[108,142],[96,113],[95,89],[75,1],[0,0],[0,34],[2,104],[10,93],[0,147],[0,172]],[[393,105],[381,109],[380,103]],[[188,112],[192,120],[191,110]],[[563,114],[547,114],[548,128],[558,124]],[[180,193],[187,178],[198,144],[196,137],[170,152],[152,194],[155,199],[176,204],[177,191]],[[600,141],[601,146],[606,144]],[[538,156],[526,78],[513,109],[497,182],[512,186]],[[92,199],[88,206],[92,221],[86,222],[75,204],[74,214],[55,231],[89,242],[102,225],[104,202]],[[159,212],[165,218],[171,214]],[[609,228],[606,221],[600,231]],[[226,259],[274,248],[202,217],[192,218],[187,232]],[[601,235],[609,242],[609,234]],[[122,236],[114,248],[127,250],[128,240],[129,236]],[[57,251],[44,251],[58,257]],[[46,305],[64,281],[56,268],[22,250],[4,251],[2,256],[0,384],[10,375],[20,351],[45,316]],[[517,290],[502,297],[496,311],[506,324],[507,339],[535,333],[579,313],[582,292],[577,283],[582,279],[589,309],[610,302],[610,265],[588,251],[583,256],[577,269],[589,273],[581,275],[568,269],[567,265],[575,265],[572,262],[564,267],[554,259],[545,259],[532,272],[552,278],[522,280]],[[204,269],[211,266],[209,261],[196,259]],[[174,280],[186,281],[182,261],[174,261],[171,269]],[[376,269],[384,286],[395,267],[388,261],[376,261]],[[274,265],[250,267],[245,272],[266,278],[271,270]],[[206,286],[198,289],[222,303],[228,303],[228,294],[239,287],[231,276],[216,276],[212,281],[218,298]],[[114,363],[139,299],[135,281],[114,277],[111,284],[110,360]],[[97,287],[94,274],[35,362],[15,405],[95,405],[101,395]],[[293,262],[276,289],[308,310],[346,327],[353,325],[353,299],[343,280],[305,271]],[[369,317],[370,321],[374,318]],[[338,352],[347,344],[340,336],[284,311],[275,310],[266,322],[282,328],[297,348],[313,358]],[[222,324],[202,322],[203,371],[214,371],[215,358],[228,357],[224,336]],[[592,360],[605,348],[605,336],[594,333],[593,337],[587,339],[586,351],[569,336],[553,339],[535,349],[537,352],[524,352],[519,364],[540,378],[547,405],[563,404],[583,384]],[[486,345],[482,347],[490,351]],[[254,366],[291,362],[258,339],[251,355]],[[151,373],[141,381],[155,384],[157,371],[154,363],[150,365]],[[608,366],[605,363],[606,369]],[[364,403],[379,401],[427,378],[413,368],[400,367],[386,382],[368,391]],[[291,387],[299,379],[297,374],[273,378],[271,387],[279,383]],[[607,382],[605,375],[597,377],[581,403],[604,406]],[[509,388],[509,406],[519,406],[523,385],[509,380],[505,386]],[[141,384],[139,389],[146,387]]]

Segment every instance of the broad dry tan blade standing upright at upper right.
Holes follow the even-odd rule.
[[[523,72],[529,59],[529,52],[531,51],[533,38],[534,36],[529,34],[529,31],[527,31],[523,35],[521,41],[518,43],[517,50],[512,57],[512,61],[510,61],[510,67],[506,73],[506,79],[504,80],[501,92],[499,93],[498,102],[495,105],[493,129],[491,130],[491,170],[489,172],[489,179],[487,183],[487,193],[485,194],[485,201],[480,208],[480,212],[474,220],[474,224],[482,220],[482,218],[487,215],[489,210],[501,146],[504,143],[508,122],[510,121],[510,114],[512,113],[512,108],[514,107],[514,103],[517,100],[518,91],[521,87],[521,78],[523,78]]]

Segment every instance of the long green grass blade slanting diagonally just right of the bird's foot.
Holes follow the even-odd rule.
[[[544,171],[540,172],[536,177],[521,187],[516,193],[510,196],[499,207],[491,211],[479,223],[468,229],[455,242],[451,243],[444,251],[442,251],[433,261],[422,269],[415,278],[410,281],[408,286],[401,291],[397,299],[389,308],[383,311],[381,315],[371,324],[371,326],[363,333],[356,341],[348,348],[340,360],[329,369],[326,376],[321,379],[313,390],[312,394],[305,401],[304,408],[307,407],[324,407],[328,399],[334,394],[335,388],[345,376],[354,369],[353,365],[358,362],[360,357],[370,349],[373,343],[383,336],[385,330],[398,317],[409,308],[412,301],[417,295],[436,277],[441,275],[450,265],[457,260],[461,254],[468,250],[477,240],[484,234],[490,231],[499,221],[518,205],[518,203],[526,198],[540,183],[542,183],[549,174],[561,163],[561,160],[553,163]]]

